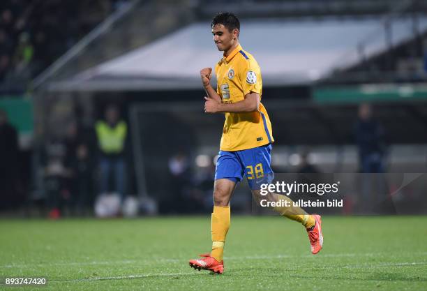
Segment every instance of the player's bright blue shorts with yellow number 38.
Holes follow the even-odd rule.
[[[249,187],[259,190],[261,184],[271,184],[271,144],[243,151],[220,151],[216,162],[215,179],[239,182],[246,176]]]

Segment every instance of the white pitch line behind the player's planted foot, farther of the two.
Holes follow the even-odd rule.
[[[389,253],[327,253],[313,256],[313,255],[249,255],[241,257],[225,257],[225,260],[277,260],[285,258],[345,258],[345,257],[372,257],[375,255],[389,255]],[[407,255],[427,255],[427,253],[408,253]],[[151,262],[186,262],[186,258],[183,259],[166,259],[166,258],[152,258],[150,260],[120,260],[120,261],[92,261],[92,262],[57,262],[57,263],[38,263],[38,264],[6,264],[0,266],[0,268],[24,268],[24,267],[43,267],[49,266],[87,266],[87,265],[98,265],[98,264],[144,264]]]

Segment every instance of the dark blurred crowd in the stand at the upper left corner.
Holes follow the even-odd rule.
[[[125,0],[7,0],[0,4],[0,93],[29,82]]]

